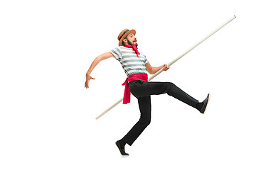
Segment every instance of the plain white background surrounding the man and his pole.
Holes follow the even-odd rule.
[[[152,120],[122,158],[114,142],[139,120],[137,99],[119,104],[126,75],[114,58],[85,73],[137,30],[152,66],[210,103],[205,115],[151,96]],[[255,5],[252,1],[1,1],[0,169],[255,169]]]

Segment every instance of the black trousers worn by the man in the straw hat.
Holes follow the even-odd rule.
[[[189,96],[179,89],[175,84],[170,82],[151,82],[151,81],[129,81],[129,90],[132,95],[138,99],[139,111],[141,113],[139,121],[132,127],[122,140],[132,145],[135,140],[142,134],[143,130],[151,121],[151,99],[150,95],[168,94],[183,103],[196,108],[198,100]]]

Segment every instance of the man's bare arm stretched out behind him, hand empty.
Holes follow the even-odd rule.
[[[111,52],[105,52],[102,55],[99,55],[98,57],[93,60],[92,64],[90,65],[90,68],[88,69],[86,73],[86,81],[85,81],[85,88],[89,88],[89,81],[90,79],[95,79],[90,76],[92,70],[99,64],[102,60],[106,60],[110,57],[114,57],[114,55]]]

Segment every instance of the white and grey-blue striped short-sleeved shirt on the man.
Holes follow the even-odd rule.
[[[110,50],[110,52],[114,55],[114,58],[121,63],[127,77],[134,73],[147,74],[145,64],[148,61],[146,59],[146,55],[143,53],[140,52],[140,55],[137,56],[132,48],[123,46],[115,47]]]

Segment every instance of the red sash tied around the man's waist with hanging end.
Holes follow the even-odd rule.
[[[127,77],[127,79],[122,84],[122,86],[125,85],[123,104],[130,103],[131,101],[131,92],[129,91],[128,81],[134,81],[134,80],[148,81],[148,76],[145,73],[136,73],[136,74],[129,75],[129,77]]]

